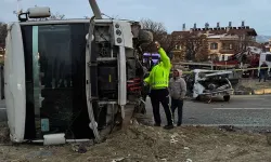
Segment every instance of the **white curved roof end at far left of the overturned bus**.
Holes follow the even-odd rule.
[[[11,140],[22,143],[25,133],[25,62],[18,23],[8,28],[4,94]]]

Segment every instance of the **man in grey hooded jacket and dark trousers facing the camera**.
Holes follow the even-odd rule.
[[[182,124],[183,99],[186,94],[186,83],[182,76],[182,70],[175,70],[173,77],[169,80],[169,92],[171,96],[171,111],[175,118],[175,110],[178,108],[177,126]]]

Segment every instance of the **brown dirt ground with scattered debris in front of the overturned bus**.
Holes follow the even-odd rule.
[[[140,124],[114,133],[96,145],[46,147],[9,145],[1,127],[0,162],[245,162],[271,161],[267,136],[215,127],[186,126],[166,131]]]

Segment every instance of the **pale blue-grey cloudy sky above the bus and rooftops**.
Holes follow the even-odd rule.
[[[17,0],[0,0],[0,21],[16,21],[13,11]],[[254,27],[258,35],[271,36],[271,0],[96,0],[102,13],[117,18],[140,21],[152,18],[162,22],[168,31],[186,28],[204,27],[206,22],[215,27],[245,25]],[[50,6],[51,12],[65,14],[67,18],[91,16],[88,0],[21,0],[20,6]]]

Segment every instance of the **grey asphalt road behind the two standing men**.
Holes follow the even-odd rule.
[[[147,114],[152,116],[151,102],[147,99]],[[164,124],[166,118],[160,106]],[[185,100],[183,106],[184,125],[234,125],[245,127],[271,127],[271,96],[232,96],[229,103],[216,99],[205,102]],[[177,119],[177,117],[176,117]]]

